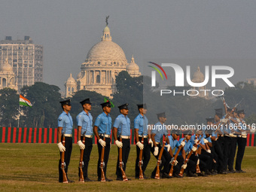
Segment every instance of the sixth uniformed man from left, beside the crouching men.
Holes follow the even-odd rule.
[[[154,148],[151,148],[151,153],[154,154],[154,157],[158,160],[158,156],[160,154],[161,146],[161,139],[163,135],[167,137],[167,150],[163,150],[163,154],[161,157],[160,163],[160,175],[162,178],[172,178],[169,176],[169,162],[172,159],[171,155],[169,154],[170,145],[169,145],[169,138],[167,134],[167,130],[164,128],[164,123],[166,122],[166,113],[162,112],[157,114],[158,122],[154,124],[154,127],[151,130],[151,139],[154,143]],[[163,168],[163,170],[161,170]],[[151,173],[151,178],[154,178],[157,172],[157,166],[154,168],[154,171]]]

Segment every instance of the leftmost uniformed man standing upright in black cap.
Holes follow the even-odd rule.
[[[60,102],[62,106],[62,114],[59,115],[58,118],[58,148],[60,151],[60,159],[59,159],[59,182],[63,182],[63,175],[62,175],[62,169],[61,166],[61,154],[63,151],[65,151],[65,172],[68,178],[68,167],[69,167],[69,161],[72,154],[72,130],[73,130],[73,120],[71,115],[69,114],[69,111],[71,110],[71,103],[70,99],[66,101]],[[62,145],[62,138],[65,137],[65,147]],[[72,183],[74,181],[69,180],[68,182]]]

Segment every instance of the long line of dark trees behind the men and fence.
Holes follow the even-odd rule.
[[[190,96],[169,96],[164,98],[171,103],[166,106],[163,99],[151,86],[149,77],[131,78],[127,72],[120,72],[117,75],[117,93],[114,93],[113,99],[115,107],[111,110],[111,117],[114,123],[115,117],[119,113],[117,106],[123,103],[129,103],[131,125],[138,115],[136,104],[147,101],[149,123],[157,122],[157,113],[161,108],[166,109],[167,120],[169,123],[184,124],[186,123],[205,123],[206,117],[214,116],[215,108],[223,108],[221,99],[204,99]],[[20,94],[32,102],[32,108],[20,106],[20,127],[57,127],[57,118],[62,112],[59,101],[63,100],[59,93],[59,87],[55,85],[36,82],[32,86],[23,87]],[[224,90],[225,100],[230,107],[236,105],[243,98],[239,108],[245,109],[248,123],[256,122],[256,88],[252,84],[239,82],[235,87],[229,87]],[[75,117],[82,111],[80,102],[90,98],[92,104],[91,114],[94,120],[102,113],[100,103],[104,102],[105,96],[99,93],[80,90],[72,96],[72,114],[74,125],[76,126]],[[65,98],[67,99],[67,98]],[[108,98],[107,98],[108,99]],[[19,117],[19,94],[16,90],[4,88],[0,90],[0,126],[17,126]]]

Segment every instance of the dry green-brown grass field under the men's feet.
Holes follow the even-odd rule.
[[[69,164],[69,178],[74,184],[58,183],[59,152],[56,144],[0,144],[0,191],[256,191],[256,148],[245,149],[242,169],[246,173],[214,175],[200,178],[147,179],[134,178],[136,148],[133,145],[126,167],[132,181],[78,182],[78,145],[73,146]],[[89,177],[96,180],[97,146],[93,145]],[[115,179],[117,146],[111,148],[108,160],[108,178]],[[157,160],[151,161],[145,174],[150,176]]]

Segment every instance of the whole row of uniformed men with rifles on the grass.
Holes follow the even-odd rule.
[[[60,102],[62,114],[58,118],[58,148],[59,182],[72,183],[68,178],[69,161],[72,154],[72,130],[73,120],[69,111],[71,101]],[[97,166],[98,181],[112,181],[107,178],[108,156],[111,148],[110,117],[111,102],[102,105],[102,114],[96,117],[93,126],[93,117],[90,114],[92,108],[90,99],[81,101],[83,111],[76,117],[78,124],[78,146],[81,150],[79,164],[79,181],[92,181],[88,178],[88,165],[90,153],[93,148],[93,133],[97,138],[99,160]],[[112,133],[114,142],[118,148],[116,175],[119,181],[128,181],[126,177],[126,163],[130,154],[130,118],[128,104],[118,106],[120,115],[114,120]],[[245,152],[248,127],[245,125],[245,113],[236,108],[215,109],[215,117],[207,118],[207,125],[215,125],[218,129],[183,131],[184,138],[178,140],[181,130],[172,130],[168,136],[168,130],[160,128],[166,122],[165,112],[157,114],[157,129],[148,130],[147,105],[139,104],[139,115],[134,119],[134,136],[136,139],[136,174],[139,179],[147,178],[145,169],[151,159],[151,153],[157,159],[157,166],[151,173],[151,178],[182,178],[185,172],[189,177],[227,174],[244,172],[241,169],[242,158]],[[229,129],[228,127],[239,125],[242,129]],[[164,127],[164,126],[163,126]],[[163,140],[163,144],[161,144]],[[237,154],[236,154],[236,146]],[[175,150],[174,150],[175,149]],[[173,153],[175,151],[175,153]],[[236,154],[236,165],[233,169]]]

